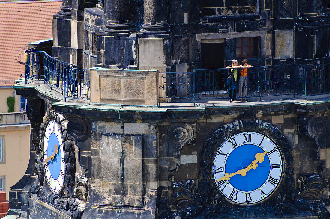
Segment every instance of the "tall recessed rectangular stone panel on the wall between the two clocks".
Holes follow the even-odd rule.
[[[143,135],[101,133],[100,206],[143,206]],[[103,191],[104,190],[104,191]]]

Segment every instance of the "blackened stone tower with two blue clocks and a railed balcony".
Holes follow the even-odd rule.
[[[329,218],[328,7],[63,0],[14,85],[31,142],[10,214]]]

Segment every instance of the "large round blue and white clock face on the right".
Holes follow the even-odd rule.
[[[268,198],[281,181],[283,158],[265,134],[241,132],[228,138],[215,154],[213,176],[222,195],[249,205]]]

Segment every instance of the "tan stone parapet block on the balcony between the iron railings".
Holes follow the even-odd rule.
[[[90,69],[91,103],[157,105],[158,70]]]

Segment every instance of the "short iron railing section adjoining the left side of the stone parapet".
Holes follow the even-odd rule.
[[[90,73],[89,69],[72,66],[64,68],[65,71],[65,98],[90,99]]]

